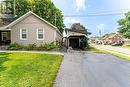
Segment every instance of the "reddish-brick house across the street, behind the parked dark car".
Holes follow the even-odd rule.
[[[111,44],[111,43],[123,43],[123,37],[119,34],[110,35],[103,38],[104,44]]]

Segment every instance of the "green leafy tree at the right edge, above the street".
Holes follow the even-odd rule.
[[[125,14],[125,17],[118,21],[119,24],[119,33],[124,37],[130,39],[130,12]]]

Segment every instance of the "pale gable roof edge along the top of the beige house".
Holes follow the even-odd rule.
[[[40,16],[36,15],[36,14],[33,13],[32,11],[27,12],[26,14],[24,14],[24,15],[21,16],[21,17],[19,17],[18,19],[16,19],[15,21],[13,21],[12,23],[10,23],[9,25],[7,25],[7,26],[5,26],[5,27],[3,27],[3,28],[4,28],[4,29],[8,29],[8,28],[14,26],[15,24],[17,24],[18,22],[22,21],[24,18],[26,18],[26,17],[28,17],[28,16],[30,16],[30,15],[33,15],[33,16],[37,17],[38,19],[40,19],[41,21],[45,22],[45,23],[48,24],[49,26],[51,26],[51,27],[53,27],[54,29],[56,29],[56,31],[57,31],[60,35],[62,35],[62,34],[60,33],[60,31],[57,29],[56,26],[52,25],[51,23],[49,23],[49,22],[46,21],[45,19],[41,18]],[[2,29],[3,29],[3,28],[2,28]]]

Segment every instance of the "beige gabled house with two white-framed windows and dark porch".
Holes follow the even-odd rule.
[[[0,43],[41,45],[55,41],[62,41],[59,30],[31,11],[9,25],[0,27]]]

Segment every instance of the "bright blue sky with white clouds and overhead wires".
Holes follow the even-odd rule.
[[[67,17],[73,15],[124,13],[130,10],[130,0],[52,0],[64,15],[64,23],[69,28],[73,23],[81,23],[93,36],[116,32],[120,15]]]

